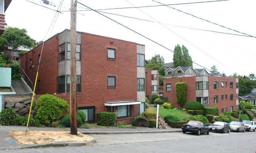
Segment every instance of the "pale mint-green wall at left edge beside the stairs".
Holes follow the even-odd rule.
[[[0,67],[0,87],[11,87],[11,68]]]

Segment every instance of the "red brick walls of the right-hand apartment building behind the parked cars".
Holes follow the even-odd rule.
[[[196,77],[199,76],[190,76],[183,78],[168,78],[164,79],[164,97],[168,98],[168,102],[172,103],[174,107],[179,108],[179,105],[176,102],[176,93],[175,93],[175,84],[176,82],[186,82],[186,102],[196,101]],[[234,95],[236,93],[236,87],[234,86],[236,82],[236,78],[225,78],[218,76],[206,76],[208,77],[208,95],[209,95],[209,104],[204,105],[205,107],[219,107],[219,115],[221,113],[222,108],[225,110],[226,107],[228,111],[230,111],[230,107],[233,106],[233,110],[236,110],[237,100],[234,99]],[[233,81],[233,88],[230,89],[230,86],[222,87],[221,82],[227,82],[228,85]],[[218,89],[214,89],[214,82],[218,82]],[[166,84],[171,84],[172,91],[166,91]],[[199,90],[198,90],[199,91]],[[230,100],[230,96],[233,94],[233,100]],[[228,95],[227,99],[225,96],[223,100],[221,99],[222,95]],[[218,103],[214,103],[214,97],[218,96]],[[185,104],[182,106],[185,108]]]

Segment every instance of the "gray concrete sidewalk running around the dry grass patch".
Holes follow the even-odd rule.
[[[0,149],[17,149],[17,148],[34,148],[42,146],[82,146],[86,145],[85,142],[68,142],[68,143],[50,143],[50,144],[33,144],[33,145],[19,145],[9,135],[8,131],[26,131],[26,126],[2,126],[0,125]],[[69,127],[55,128],[55,127],[28,127],[28,131],[70,131]],[[77,131],[82,134],[131,134],[131,133],[164,133],[164,132],[181,132],[181,128],[172,128],[167,125],[167,129],[156,128],[91,128],[81,129],[77,128]],[[95,143],[95,139],[87,144]]]

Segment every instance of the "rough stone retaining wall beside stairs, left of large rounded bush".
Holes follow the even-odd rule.
[[[5,109],[12,108],[14,111],[16,111],[17,117],[19,116],[28,117],[31,102],[32,102],[32,98],[24,98],[24,100],[20,100],[20,101],[4,100]],[[30,118],[34,118],[34,115],[36,115],[36,111],[34,110],[35,106],[36,106],[36,98],[34,98],[33,100]]]

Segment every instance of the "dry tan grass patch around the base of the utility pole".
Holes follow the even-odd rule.
[[[8,131],[17,144],[47,144],[56,142],[89,142],[93,140],[81,133],[71,135],[70,131]]]

